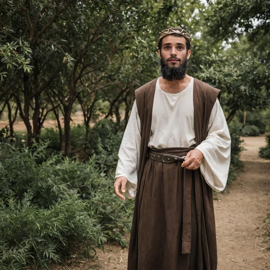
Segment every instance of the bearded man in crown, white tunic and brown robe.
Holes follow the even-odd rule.
[[[215,270],[212,189],[222,191],[231,140],[220,90],[186,74],[191,37],[159,33],[162,77],[135,90],[114,190],[135,197],[128,270]]]

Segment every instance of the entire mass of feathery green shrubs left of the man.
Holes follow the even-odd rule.
[[[130,230],[133,200],[114,194],[114,175],[102,172],[98,156],[85,163],[47,158],[48,145],[0,143],[0,269],[45,268],[78,245],[89,254],[108,239],[126,245],[121,235]]]

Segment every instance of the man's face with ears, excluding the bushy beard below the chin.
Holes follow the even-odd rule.
[[[168,67],[180,66],[190,57],[191,50],[187,51],[186,39],[183,36],[167,35],[161,42],[161,51],[158,50],[158,55]]]

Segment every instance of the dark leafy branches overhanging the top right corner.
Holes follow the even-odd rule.
[[[269,1],[208,1],[206,18],[209,31],[217,39],[228,39],[249,34],[254,39],[259,33],[269,33]]]

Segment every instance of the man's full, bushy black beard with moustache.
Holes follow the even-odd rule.
[[[178,61],[181,61],[179,58],[168,58],[166,62],[168,62],[171,59],[177,59]],[[163,79],[172,81],[172,80],[182,80],[184,79],[186,72],[187,72],[187,67],[188,67],[188,59],[187,55],[185,58],[185,61],[183,63],[180,62],[179,66],[168,66],[167,63],[163,61],[163,57],[161,55],[160,59],[160,71],[162,74]]]

